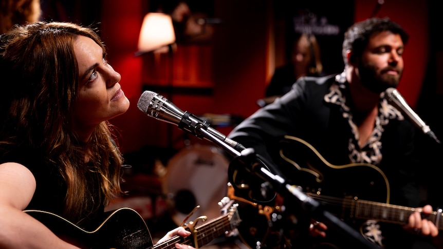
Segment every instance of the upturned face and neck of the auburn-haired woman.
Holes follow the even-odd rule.
[[[79,89],[72,108],[72,129],[80,139],[88,139],[101,122],[124,113],[129,101],[121,90],[120,74],[107,64],[102,48],[94,40],[78,36],[74,51]]]

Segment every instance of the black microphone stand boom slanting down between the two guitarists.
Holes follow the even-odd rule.
[[[343,236],[348,237],[354,242],[358,243],[360,248],[380,248],[375,244],[367,241],[361,234],[359,234],[355,229],[344,223],[342,220],[330,214],[327,210],[324,210],[320,203],[309,196],[307,196],[303,191],[294,186],[293,184],[288,183],[288,181],[279,175],[274,175],[271,171],[268,170],[264,159],[255,154],[252,148],[246,148],[242,151],[238,151],[233,147],[229,146],[219,138],[212,135],[209,131],[205,129],[204,125],[197,124],[195,126],[195,131],[201,136],[204,136],[208,140],[214,142],[219,145],[223,149],[225,149],[229,154],[234,156],[234,161],[239,162],[240,165],[244,166],[250,173],[260,177],[261,179],[267,181],[269,184],[262,184],[263,187],[268,187],[274,189],[276,192],[287,196],[289,198],[293,198],[299,205],[302,207],[302,210],[306,211],[310,214],[314,219],[318,221],[322,221],[328,227],[337,229],[337,231],[341,232]],[[233,167],[233,163],[231,162],[229,167]],[[231,170],[230,170],[231,171]]]

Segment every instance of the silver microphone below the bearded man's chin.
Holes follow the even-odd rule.
[[[431,128],[423,122],[423,120],[418,117],[417,113],[408,105],[408,103],[403,99],[400,92],[397,89],[391,87],[386,89],[385,99],[390,102],[391,105],[399,109],[404,116],[408,117],[408,119],[418,128],[420,128],[425,134],[429,135],[433,138],[437,143],[440,141],[435,136],[434,132],[432,132]]]

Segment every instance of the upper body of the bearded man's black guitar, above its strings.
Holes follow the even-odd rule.
[[[281,142],[280,156],[286,178],[306,193],[390,202],[389,181],[375,165],[333,165],[306,141],[291,136]]]

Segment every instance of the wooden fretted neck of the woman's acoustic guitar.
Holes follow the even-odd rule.
[[[195,231],[190,236],[183,238],[176,236],[168,241],[155,245],[152,249],[175,248],[175,243],[192,245],[196,248],[204,246],[213,239],[222,236],[225,231],[231,231],[231,222],[229,214],[219,216],[211,221],[195,227]],[[196,243],[195,244],[195,238]]]

